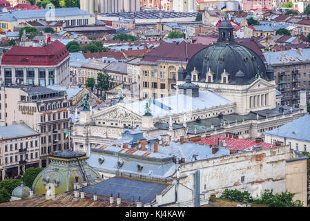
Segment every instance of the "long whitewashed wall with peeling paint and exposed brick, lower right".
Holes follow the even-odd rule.
[[[194,184],[193,173],[200,170],[200,192],[207,195],[215,193],[219,197],[225,189],[249,191],[253,197],[262,193],[264,189],[273,189],[274,193],[281,193],[286,190],[286,171],[290,168],[286,160],[292,157],[298,156],[290,151],[289,146],[277,146],[187,162],[181,164],[181,175],[187,177],[180,182],[191,188]],[[300,165],[300,169],[306,170],[306,164]],[[289,181],[292,186],[307,179],[307,174],[296,176],[294,171],[289,175],[294,177]],[[296,199],[303,200],[304,195],[307,199],[307,192],[296,195]]]

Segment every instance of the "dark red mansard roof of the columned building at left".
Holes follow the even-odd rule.
[[[46,47],[14,47],[3,54],[1,64],[17,66],[55,66],[70,54],[64,44],[53,41]]]

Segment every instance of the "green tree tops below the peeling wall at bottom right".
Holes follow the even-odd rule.
[[[254,204],[264,204],[269,207],[302,207],[300,200],[293,200],[295,193],[288,191],[273,194],[273,190],[266,189],[258,199],[253,199],[248,191],[238,191],[236,189],[225,189],[220,198],[229,199],[235,202],[249,202]]]

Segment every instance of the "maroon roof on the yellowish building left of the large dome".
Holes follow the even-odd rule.
[[[185,41],[182,41],[180,44],[162,41],[161,44],[149,52],[142,61],[188,61],[196,52],[203,48],[206,48],[206,45],[187,44]]]

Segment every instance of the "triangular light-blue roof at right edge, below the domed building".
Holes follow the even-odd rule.
[[[310,142],[310,115],[300,117],[264,134]]]

